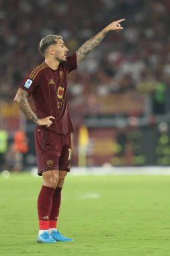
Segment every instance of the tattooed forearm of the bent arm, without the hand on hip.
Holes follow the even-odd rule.
[[[15,101],[17,102],[19,108],[21,108],[21,110],[24,112],[26,117],[31,121],[33,121],[34,123],[37,123],[38,117],[32,111],[27,97],[28,97],[28,93],[22,89],[19,89],[16,96],[17,100]]]

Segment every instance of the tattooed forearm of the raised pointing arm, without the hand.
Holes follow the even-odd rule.
[[[108,33],[107,30],[103,29],[101,32],[93,36],[91,39],[87,40],[80,48],[77,50],[77,64],[79,64],[85,56],[90,53],[100,42],[103,40],[105,35]]]

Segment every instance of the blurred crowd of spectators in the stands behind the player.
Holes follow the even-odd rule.
[[[71,54],[121,18],[126,18],[124,30],[110,32],[70,76],[75,123],[99,113],[97,96],[165,93],[170,86],[169,0],[0,0],[0,100],[13,100],[26,74],[43,61],[38,53],[43,36],[62,36]]]

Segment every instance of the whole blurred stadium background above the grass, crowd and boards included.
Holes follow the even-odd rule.
[[[40,39],[58,34],[72,54],[122,18],[69,75],[72,166],[169,166],[169,0],[0,0],[0,170],[36,166],[35,125],[13,98]]]

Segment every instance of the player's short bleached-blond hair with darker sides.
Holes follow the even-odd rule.
[[[51,44],[55,44],[57,39],[62,39],[61,36],[57,36],[56,34],[49,34],[40,40],[39,51],[44,55],[47,47]]]

